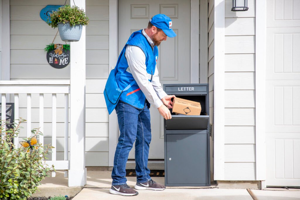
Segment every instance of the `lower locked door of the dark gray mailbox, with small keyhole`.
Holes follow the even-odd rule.
[[[205,134],[167,134],[167,184],[208,184]]]

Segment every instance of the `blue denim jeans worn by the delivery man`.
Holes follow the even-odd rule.
[[[150,111],[136,109],[121,101],[116,106],[120,137],[114,157],[112,172],[113,185],[126,184],[126,162],[129,151],[135,141],[135,163],[137,182],[144,183],[151,180],[148,165],[149,144],[151,142]]]

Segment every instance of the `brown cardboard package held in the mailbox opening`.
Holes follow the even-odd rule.
[[[183,115],[200,115],[201,105],[199,102],[181,99],[177,97],[173,99],[172,112],[176,112]]]

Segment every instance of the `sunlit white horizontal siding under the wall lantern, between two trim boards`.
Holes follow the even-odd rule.
[[[255,180],[255,0],[225,0],[225,180]]]

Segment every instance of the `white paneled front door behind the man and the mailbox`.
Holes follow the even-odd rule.
[[[161,84],[190,83],[190,1],[182,0],[119,0],[118,5],[119,53],[131,33],[147,28],[152,16],[163,13],[172,20],[177,36],[167,38],[158,47],[157,67]],[[163,118],[151,107],[151,132],[149,159],[164,159]],[[129,154],[134,159],[134,148]]]

